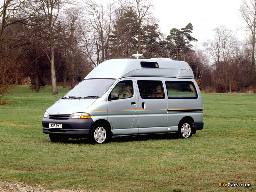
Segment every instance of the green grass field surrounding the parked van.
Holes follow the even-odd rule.
[[[256,191],[256,95],[203,93],[204,129],[188,139],[115,137],[90,145],[53,143],[42,132],[44,111],[68,89],[17,88],[12,105],[0,105],[0,182],[92,192]]]

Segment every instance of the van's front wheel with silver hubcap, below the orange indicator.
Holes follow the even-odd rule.
[[[90,140],[92,144],[103,144],[110,141],[112,134],[108,126],[104,123],[96,123],[90,132]]]

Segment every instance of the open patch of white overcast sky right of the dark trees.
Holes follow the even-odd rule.
[[[188,23],[193,25],[193,37],[198,39],[193,43],[197,48],[207,38],[212,38],[212,29],[227,26],[237,32],[239,25],[245,25],[239,19],[239,7],[242,0],[152,0],[155,4],[154,15],[159,19],[159,27],[166,36],[172,28],[184,28]],[[244,32],[238,31],[238,38],[244,39]]]

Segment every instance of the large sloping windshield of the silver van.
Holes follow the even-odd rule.
[[[95,99],[102,97],[115,79],[85,79],[61,99]]]

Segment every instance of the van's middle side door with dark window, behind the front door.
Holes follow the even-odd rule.
[[[167,132],[167,100],[161,77],[135,77],[139,134]]]

